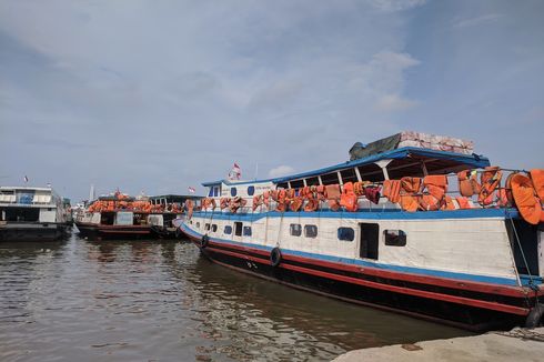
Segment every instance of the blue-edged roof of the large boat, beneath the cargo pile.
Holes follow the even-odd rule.
[[[475,154],[475,153],[464,154],[464,153],[423,149],[417,147],[404,147],[404,148],[394,149],[377,154],[367,155],[357,160],[346,161],[326,168],[291,174],[281,178],[254,180],[254,181],[220,180],[220,181],[204,182],[202,183],[202,185],[211,187],[221,183],[233,185],[233,184],[260,183],[260,182],[283,183],[288,181],[312,178],[326,173],[342,171],[355,167],[364,167],[370,164],[375,165],[375,162],[382,160],[392,160],[392,162],[390,163],[391,169],[392,168],[399,170],[402,169],[403,173],[405,173],[404,175],[421,172],[422,162],[425,163],[429,173],[456,172],[463,169],[477,169],[477,168],[484,168],[490,165],[490,160],[481,154]],[[387,170],[390,170],[390,167],[387,167]],[[395,178],[395,174],[394,173],[392,174],[391,171],[390,171],[390,175],[393,179]]]

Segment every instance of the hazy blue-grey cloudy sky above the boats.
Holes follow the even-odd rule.
[[[544,1],[0,0],[0,184],[187,193],[414,130],[544,167]]]

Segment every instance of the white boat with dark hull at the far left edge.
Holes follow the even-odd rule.
[[[53,241],[70,230],[69,201],[51,188],[0,187],[0,241]]]

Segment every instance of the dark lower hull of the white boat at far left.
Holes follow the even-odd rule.
[[[64,223],[7,223],[0,227],[0,241],[54,241],[64,238],[69,227]]]

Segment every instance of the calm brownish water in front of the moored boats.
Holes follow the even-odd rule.
[[[0,243],[0,361],[320,361],[465,334],[248,276],[189,243]]]

